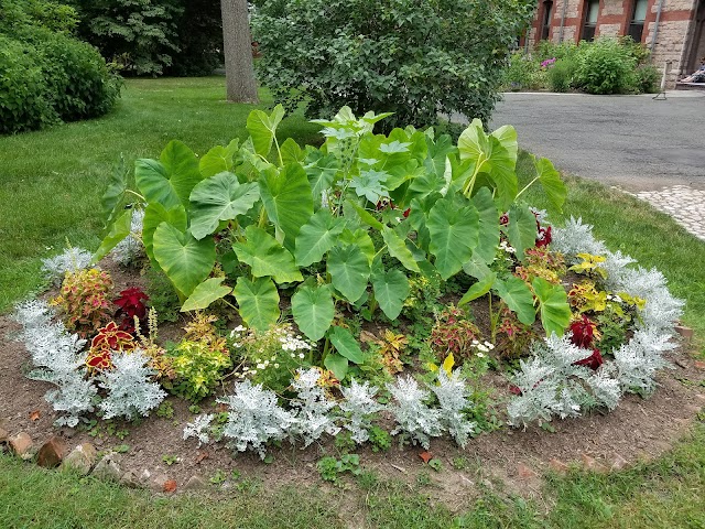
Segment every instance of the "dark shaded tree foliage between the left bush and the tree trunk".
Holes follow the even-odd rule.
[[[160,75],[178,52],[181,0],[74,0],[79,33],[124,75]]]

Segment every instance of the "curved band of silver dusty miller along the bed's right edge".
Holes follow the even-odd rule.
[[[592,352],[575,347],[570,335],[554,335],[534,346],[534,356],[520,360],[520,369],[512,378],[521,393],[507,410],[509,423],[516,427],[554,415],[577,417],[594,406],[612,410],[626,392],[649,395],[657,388],[657,371],[671,367],[663,354],[675,348],[673,327],[684,303],[669,292],[661,272],[629,268],[634,260],[609,251],[595,239],[593,227],[579,218],[571,218],[564,228],[554,229],[552,246],[571,263],[579,261],[577,253],[582,252],[605,257],[608,288],[642,298],[646,306],[639,313],[633,337],[612,350],[615,359],[605,361],[596,371],[574,365]]]

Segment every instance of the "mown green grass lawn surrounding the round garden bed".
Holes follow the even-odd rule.
[[[0,137],[0,312],[41,287],[41,258],[58,252],[66,240],[96,248],[99,196],[120,154],[130,164],[137,158],[156,158],[171,139],[202,154],[243,137],[253,107],[228,105],[224,93],[220,77],[130,80],[110,116]],[[301,143],[315,141],[316,130],[301,116],[280,128],[282,137]],[[519,172],[523,180],[530,177],[525,154]],[[673,292],[687,301],[685,323],[705,336],[705,244],[630,196],[586,181],[568,179],[568,184],[565,214],[594,224],[595,234],[612,250],[659,268]],[[543,206],[538,195],[528,196]],[[609,476],[550,476],[535,501],[486,490],[462,516],[437,506],[431,499],[433,488],[423,483],[410,490],[365,473],[347,486],[252,486],[228,496],[214,492],[154,499],[144,492],[0,456],[0,528],[702,528],[705,425],[698,423],[691,436],[655,462]]]

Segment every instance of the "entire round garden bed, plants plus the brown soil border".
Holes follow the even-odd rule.
[[[23,327],[2,320],[0,428],[41,443],[54,424],[164,492],[364,468],[452,503],[524,494],[547,465],[619,468],[690,424],[683,303],[589,226],[519,199],[538,183],[560,209],[566,190],[533,159],[519,191],[511,127],[475,120],[455,147],[343,109],[304,151],[274,141],[282,116],[252,112],[250,140],[200,161],[171,142],[137,162],[137,191],[116,173],[93,259],[45,261],[61,290],[18,305]]]

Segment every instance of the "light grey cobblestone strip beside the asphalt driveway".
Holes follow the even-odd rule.
[[[641,191],[636,196],[668,213],[695,237],[705,240],[705,191],[674,185],[661,191]]]

